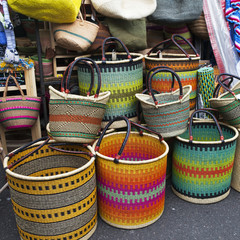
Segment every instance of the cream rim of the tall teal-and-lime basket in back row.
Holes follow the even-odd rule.
[[[108,54],[112,54],[112,52],[106,52],[105,53],[105,55],[108,55]],[[127,53],[126,52],[116,52],[116,54],[117,55],[126,55]],[[132,52],[130,52],[130,55],[131,56],[135,56],[135,57],[137,56],[136,58],[132,59],[133,62],[137,62],[137,61],[139,61],[139,60],[144,58],[144,55],[141,54],[141,53],[132,53]],[[95,54],[87,54],[87,55],[81,55],[79,57],[75,57],[75,60],[78,59],[78,58],[82,58],[82,57],[92,58],[94,56],[100,56],[102,58],[102,54],[101,53],[100,54],[95,53]],[[97,64],[102,64],[102,61],[95,61],[95,62]],[[129,62],[130,62],[129,59],[124,59],[124,60],[118,60],[118,61],[106,61],[106,63],[104,63],[104,64],[129,63]],[[92,63],[90,63],[90,64],[92,64]]]

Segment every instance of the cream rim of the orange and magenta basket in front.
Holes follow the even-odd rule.
[[[103,139],[106,138],[106,137],[112,136],[112,135],[117,135],[117,134],[126,134],[126,132],[121,131],[121,132],[109,133],[109,134],[106,134],[106,135],[103,137]],[[138,135],[139,135],[138,132],[130,132],[130,134],[138,134]],[[153,138],[158,139],[158,137],[155,136],[155,135],[153,135],[153,134],[149,134],[149,133],[143,132],[143,135],[146,135],[146,136],[149,136],[149,137],[153,137]],[[93,145],[92,145],[93,149],[95,149],[95,146],[96,146],[96,144],[97,144],[97,141],[98,141],[98,140],[96,140],[96,141],[93,143]],[[164,158],[164,157],[168,154],[168,152],[169,152],[169,146],[168,146],[168,144],[167,144],[164,140],[162,140],[161,143],[164,144],[164,146],[166,147],[166,149],[165,149],[165,151],[164,151],[164,153],[163,153],[162,155],[160,155],[160,156],[158,156],[158,157],[156,157],[156,158],[151,158],[151,159],[148,159],[148,160],[143,160],[143,161],[141,161],[141,162],[134,162],[134,161],[128,161],[128,160],[121,160],[121,159],[119,159],[119,163],[128,164],[128,165],[141,165],[141,164],[148,164],[148,163],[152,163],[152,162],[156,162],[156,161],[158,161],[158,160],[161,160],[161,159]],[[113,158],[113,157],[108,157],[108,156],[103,155],[103,154],[101,154],[101,153],[99,153],[99,152],[95,152],[95,153],[96,153],[97,156],[103,158],[104,160],[108,160],[108,161],[114,162],[114,158]]]

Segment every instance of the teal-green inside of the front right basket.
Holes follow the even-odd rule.
[[[220,125],[224,139],[230,139],[236,135],[233,129],[225,126]],[[220,134],[218,132],[216,124],[213,122],[195,122],[192,126],[192,135],[194,141],[201,141],[201,142],[211,142],[211,141],[220,141]],[[179,137],[189,140],[189,131],[185,131]]]

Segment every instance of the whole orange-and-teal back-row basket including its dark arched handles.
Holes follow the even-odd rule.
[[[188,54],[182,47],[179,46],[176,39],[182,39],[191,46],[195,54]],[[168,53],[166,50],[161,52],[158,47],[167,44],[164,48],[168,48],[172,44],[175,44],[184,54],[180,53]],[[154,53],[158,51],[157,53]],[[190,110],[195,109],[197,98],[197,70],[199,67],[199,54],[193,45],[184,37],[174,34],[171,39],[167,39],[160,42],[153,47],[147,55],[145,55],[146,69],[150,70],[157,66],[165,66],[172,68],[180,77],[182,86],[191,85],[192,92],[190,94]],[[171,74],[159,73],[156,74],[152,80],[152,87],[159,92],[168,92],[171,88]],[[176,89],[173,89],[176,90]]]

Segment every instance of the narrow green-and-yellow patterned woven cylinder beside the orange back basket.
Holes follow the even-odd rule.
[[[210,107],[209,99],[213,97],[215,89],[214,70],[212,67],[200,68],[197,71],[199,94],[201,94],[203,107]]]

